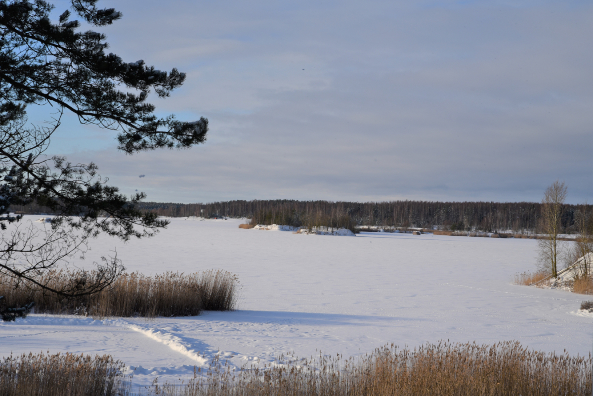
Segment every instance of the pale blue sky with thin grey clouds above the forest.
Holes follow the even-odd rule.
[[[122,193],[538,202],[561,180],[569,203],[593,202],[590,1],[98,5],[123,12],[94,28],[108,52],[187,73],[149,97],[157,114],[210,125],[192,149],[126,155],[113,131],[66,119],[48,153],[95,162]]]

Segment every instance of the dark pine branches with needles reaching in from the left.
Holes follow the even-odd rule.
[[[80,31],[71,11],[52,23],[53,8],[44,0],[0,0],[0,275],[80,296],[116,279],[123,270],[117,257],[104,258],[59,289],[47,272],[84,253],[89,238],[101,232],[123,240],[149,237],[167,222],[140,212],[135,204],[145,195],[128,199],[106,184],[92,162],[74,165],[44,154],[62,114],[117,131],[119,149],[127,154],[203,143],[208,120],[155,116],[148,94],[168,97],[185,74],[157,70],[144,60],[126,63],[106,53],[104,34]],[[97,8],[97,0],[72,0],[72,11],[96,27],[122,17],[113,8]],[[27,107],[34,105],[55,111],[43,126],[27,123]],[[11,205],[31,202],[57,214],[50,226],[24,226],[21,216],[9,215]]]

